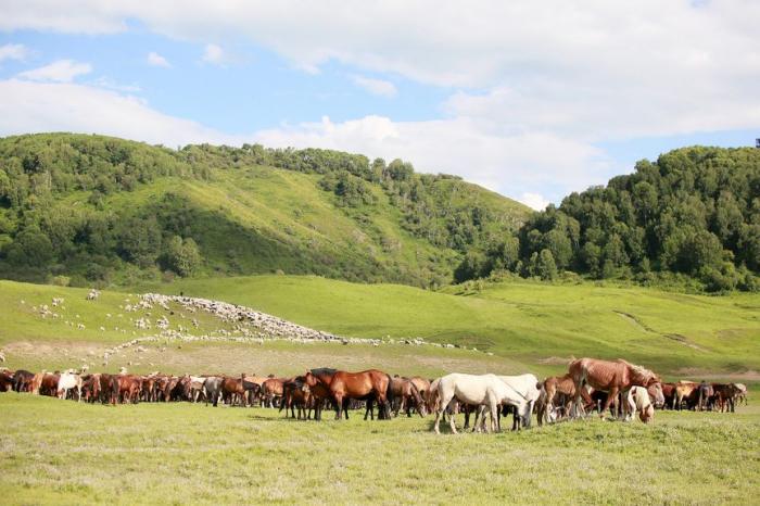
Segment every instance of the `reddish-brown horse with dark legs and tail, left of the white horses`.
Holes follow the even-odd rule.
[[[305,375],[306,384],[322,383],[329,390],[335,403],[335,419],[342,419],[345,415],[349,418],[347,409],[343,407],[343,402],[355,399],[359,401],[375,400],[384,414],[384,419],[391,418],[389,405],[389,387],[391,377],[377,369],[364,370],[362,372],[346,372],[334,369],[312,369]]]

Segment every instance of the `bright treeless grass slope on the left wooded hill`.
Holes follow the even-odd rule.
[[[114,193],[104,207],[115,213],[137,213],[159,204],[167,219],[178,207],[188,211],[180,235],[201,246],[205,265],[201,274],[315,273],[335,278],[411,282],[448,281],[458,255],[417,238],[401,227],[401,212],[377,186],[377,204],[339,207],[335,197],[321,190],[321,176],[271,167],[216,169],[210,181],[164,177],[135,191]],[[453,203],[480,202],[516,228],[529,210],[515,201],[474,185]],[[167,194],[173,200],[167,201]],[[62,207],[87,206],[89,193],[63,199]],[[443,205],[443,203],[441,203]],[[496,222],[493,223],[496,227]],[[117,281],[125,282],[123,279]],[[128,282],[128,281],[126,281]]]

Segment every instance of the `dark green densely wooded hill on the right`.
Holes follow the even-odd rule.
[[[760,289],[760,149],[685,148],[631,175],[572,193],[516,236],[469,252],[460,280],[509,270],[554,279],[657,282],[708,291]]]

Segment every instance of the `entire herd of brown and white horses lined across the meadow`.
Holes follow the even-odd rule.
[[[474,414],[473,430],[498,431],[501,417],[511,413],[512,429],[530,427],[532,415],[539,425],[583,418],[596,410],[605,416],[643,422],[654,418],[655,408],[729,410],[747,403],[742,383],[679,381],[668,383],[645,367],[623,359],[581,358],[570,363],[565,376],[543,381],[531,375],[496,376],[449,374],[436,379],[391,377],[370,369],[347,372],[331,368],[311,369],[302,376],[276,378],[241,375],[142,376],[123,371],[84,374],[0,370],[0,392],[28,392],[74,399],[79,402],[117,404],[189,401],[217,406],[279,407],[293,418],[321,419],[324,408],[335,418],[349,418],[351,409],[364,408],[364,418],[390,419],[401,412],[426,417],[435,414],[433,430],[448,418],[456,432],[454,415],[465,414],[465,429]],[[297,415],[296,415],[297,412]],[[486,417],[489,422],[486,425]]]

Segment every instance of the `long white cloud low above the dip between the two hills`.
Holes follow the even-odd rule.
[[[561,194],[606,179],[609,161],[593,146],[550,134],[489,131],[469,118],[392,122],[382,116],[262,130],[255,140],[271,147],[319,147],[387,161],[402,157],[417,170],[457,174],[518,198],[535,188]],[[521,197],[520,197],[521,199]],[[535,202],[533,202],[535,203]]]

